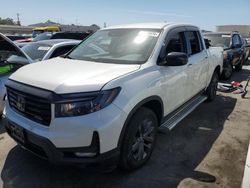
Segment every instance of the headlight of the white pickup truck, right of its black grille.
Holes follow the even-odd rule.
[[[56,117],[80,116],[101,110],[111,104],[119,94],[121,88],[101,91],[95,97],[83,97],[73,102],[60,102],[55,104]],[[69,99],[69,101],[72,100]]]

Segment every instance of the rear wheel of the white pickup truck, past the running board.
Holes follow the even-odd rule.
[[[206,90],[206,95],[207,95],[207,102],[212,102],[215,97],[216,97],[216,91],[217,91],[217,86],[218,86],[218,81],[219,81],[219,76],[218,73],[215,71],[213,73],[212,79],[209,83],[209,86]]]

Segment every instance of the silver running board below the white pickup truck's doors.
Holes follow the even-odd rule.
[[[181,120],[183,120],[188,114],[190,114],[197,106],[207,99],[207,96],[198,95],[195,98],[191,99],[169,116],[166,117],[166,120],[159,127],[160,132],[171,131]]]

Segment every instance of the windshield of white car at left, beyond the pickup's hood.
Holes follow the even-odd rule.
[[[32,59],[34,62],[41,61],[45,54],[51,48],[48,44],[29,43],[22,47],[22,50]]]

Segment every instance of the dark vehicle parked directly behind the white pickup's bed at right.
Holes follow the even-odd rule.
[[[209,40],[210,45],[224,48],[224,64],[222,78],[229,79],[233,73],[233,67],[236,71],[242,69],[244,63],[244,45],[238,32],[225,33],[204,33],[204,38]]]

